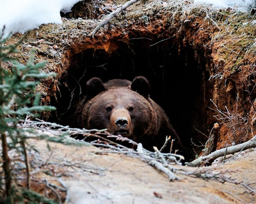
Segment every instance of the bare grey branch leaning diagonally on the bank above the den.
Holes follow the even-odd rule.
[[[115,11],[112,11],[101,23],[99,23],[96,26],[96,28],[88,35],[88,37],[94,38],[95,33],[97,33],[97,31],[101,27],[103,27],[106,23],[108,23],[112,18],[117,16],[121,11],[124,11],[125,9],[127,9],[129,6],[131,6],[132,4],[134,4],[137,1],[139,1],[139,0],[127,1],[124,5],[122,5],[121,7],[117,8]]]

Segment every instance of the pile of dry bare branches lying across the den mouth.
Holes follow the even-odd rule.
[[[42,131],[44,133],[44,137],[51,141],[65,143],[65,144],[87,144],[93,145],[96,147],[103,148],[99,152],[96,153],[122,153],[126,154],[127,156],[131,156],[134,158],[138,158],[147,164],[153,166],[157,170],[166,174],[170,181],[179,181],[181,178],[179,175],[183,176],[191,176],[197,178],[203,178],[206,180],[216,180],[219,182],[230,182],[235,184],[240,184],[249,189],[251,192],[255,192],[255,189],[250,187],[250,184],[239,182],[235,178],[231,178],[230,176],[226,176],[225,174],[228,171],[216,171],[214,168],[209,167],[197,167],[191,168],[181,165],[181,160],[184,159],[182,155],[173,154],[173,153],[161,153],[157,148],[154,147],[155,152],[150,152],[142,147],[139,143],[124,138],[122,136],[115,136],[111,135],[106,132],[106,129],[103,130],[85,130],[85,129],[78,129],[78,128],[70,128],[69,126],[62,126],[56,123],[49,123],[45,121],[31,121],[30,119],[26,119],[24,123],[19,124],[19,128],[27,129],[28,132],[31,129],[38,130],[34,131],[37,132],[37,135],[33,133],[29,135],[29,138],[38,138],[38,132]],[[47,136],[48,133],[48,136]],[[54,135],[54,136],[53,136]],[[75,140],[70,136],[74,135],[82,135],[84,138],[92,137],[95,140],[86,142],[84,140]],[[114,141],[113,139],[116,139]],[[169,140],[167,138],[166,140]],[[133,147],[137,147],[137,150],[125,147],[124,145],[120,144],[120,142],[128,142]],[[229,147],[222,150],[217,150],[207,156],[199,157],[198,159],[188,163],[188,166],[200,166],[203,164],[205,165],[205,160],[212,161],[220,156],[224,156],[226,154],[233,154],[236,152],[241,152],[243,150],[256,147],[256,138],[252,138],[250,141],[234,146]]]

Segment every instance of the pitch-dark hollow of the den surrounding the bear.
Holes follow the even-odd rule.
[[[87,49],[75,54],[59,82],[57,100],[52,100],[57,111],[50,120],[75,126],[72,115],[92,77],[103,82],[115,78],[132,81],[141,75],[149,80],[150,97],[165,110],[183,144],[192,148],[191,138],[205,141],[202,133],[209,129],[207,100],[211,98],[207,60],[177,39],[159,41],[133,38],[127,44],[117,39],[111,42],[116,47],[113,51]]]

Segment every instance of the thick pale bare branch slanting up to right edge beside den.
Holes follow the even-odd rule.
[[[234,154],[234,153],[241,152],[243,150],[247,150],[255,147],[256,147],[256,136],[254,136],[252,139],[250,139],[245,143],[217,150],[207,156],[200,156],[194,161],[188,163],[187,165],[188,166],[210,165],[216,158],[224,156],[225,154],[226,155]]]

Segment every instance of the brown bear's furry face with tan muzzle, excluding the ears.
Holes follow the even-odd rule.
[[[133,139],[152,135],[157,123],[151,104],[126,87],[110,88],[96,95],[85,105],[83,116],[88,129],[107,128],[113,135]]]

